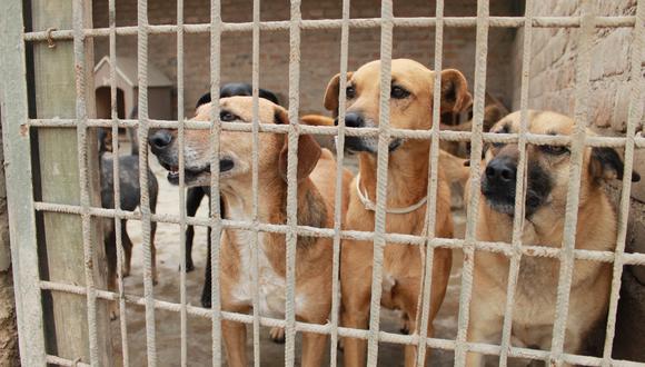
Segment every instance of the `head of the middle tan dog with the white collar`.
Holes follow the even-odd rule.
[[[340,75],[327,86],[325,108],[338,115]],[[391,61],[391,91],[389,98],[390,126],[399,129],[427,130],[433,126],[433,90],[435,71],[408,60]],[[347,73],[347,107],[345,125],[353,128],[375,128],[380,111],[380,61],[364,65]],[[455,69],[441,71],[441,112],[462,111],[470,103],[466,78]],[[423,143],[423,141],[416,140]],[[411,140],[410,140],[411,143]],[[428,141],[426,140],[427,145]],[[346,137],[347,148],[354,151],[377,151],[377,137]],[[401,139],[393,139],[389,150],[401,149]]]

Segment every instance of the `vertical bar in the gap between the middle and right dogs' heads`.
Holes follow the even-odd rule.
[[[457,320],[457,347],[455,365],[466,363],[466,338],[473,292],[473,266],[475,261],[475,240],[477,234],[477,211],[479,207],[479,161],[482,159],[482,129],[484,122],[484,95],[486,92],[486,58],[488,56],[488,0],[477,1],[477,39],[475,47],[475,106],[473,115],[473,135],[470,138],[470,200],[468,202],[466,239],[464,242],[464,268],[462,271],[462,291],[459,294],[459,316]]]

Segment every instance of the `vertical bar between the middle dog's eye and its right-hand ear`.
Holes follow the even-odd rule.
[[[426,254],[423,264],[424,269],[421,274],[424,275],[420,284],[419,298],[423,299],[419,302],[419,308],[417,309],[417,317],[415,323],[415,328],[417,325],[417,334],[419,335],[419,340],[417,344],[417,366],[423,367],[426,364],[426,338],[428,336],[428,323],[429,310],[430,310],[430,294],[433,285],[433,266],[435,258],[435,249],[430,246],[430,240],[435,238],[435,226],[436,226],[436,212],[437,212],[437,187],[438,187],[438,170],[439,170],[439,126],[440,126],[440,109],[441,109],[441,59],[444,52],[444,0],[437,0],[437,7],[435,11],[435,17],[437,18],[437,23],[435,27],[435,80],[433,90],[433,138],[430,140],[430,157],[428,162],[430,170],[428,171],[428,205],[426,206],[426,217],[425,217],[425,230],[426,230]],[[420,313],[420,314],[419,314]],[[419,324],[419,315],[421,320]]]

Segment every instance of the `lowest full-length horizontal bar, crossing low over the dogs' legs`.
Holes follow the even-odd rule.
[[[75,294],[79,296],[85,296],[87,294],[87,289],[85,287],[70,285],[70,284],[62,284],[62,282],[54,282],[54,281],[40,281],[41,289],[52,290],[52,291],[63,291],[69,294]],[[97,298],[117,301],[119,300],[119,294],[113,291],[107,290],[97,290]],[[135,295],[125,295],[126,302],[138,305],[138,306],[146,306],[146,298],[135,296]],[[162,309],[172,313],[180,313],[181,305],[170,302],[170,301],[162,301],[156,299],[153,301],[155,309]],[[212,310],[207,308],[201,308],[192,305],[186,306],[186,311],[188,315],[207,318],[210,319],[212,317]],[[247,314],[237,314],[237,313],[228,313],[222,311],[221,317],[226,320],[249,324],[254,323],[252,315]],[[286,321],[284,319],[276,319],[270,317],[260,317],[260,325],[265,327],[285,327]],[[296,330],[300,333],[316,333],[322,335],[329,335],[331,333],[331,324],[319,325],[319,324],[309,324],[309,323],[301,323],[296,321]],[[341,337],[350,337],[350,338],[359,338],[359,339],[367,339],[368,330],[363,329],[351,329],[346,327],[338,327],[338,335]],[[394,334],[387,331],[379,331],[378,333],[378,341],[389,343],[389,344],[400,344],[400,345],[408,345],[408,344],[416,344],[418,343],[419,337],[417,335],[401,335],[401,334]],[[455,340],[449,339],[439,339],[439,338],[426,338],[427,346],[430,348],[436,349],[444,349],[444,350],[455,350]],[[479,343],[467,343],[466,348],[468,350],[486,354],[486,355],[499,355],[500,347],[497,345],[489,345],[489,344],[479,344]],[[548,356],[547,350],[537,350],[537,349],[528,349],[528,348],[518,348],[518,347],[510,347],[508,351],[509,357],[520,357],[520,358],[528,358],[528,359],[544,359]],[[48,361],[50,358],[54,358],[56,363],[62,366],[71,366],[69,365],[69,360],[63,358],[58,358],[54,356],[48,356]],[[53,363],[54,359],[51,359]],[[564,355],[564,360],[570,364],[578,364],[584,366],[601,366],[603,361],[602,358],[597,357],[588,357],[588,356],[579,356],[579,355]],[[83,366],[79,364],[79,366]],[[623,361],[623,360],[612,360],[612,366],[633,366],[633,363]]]

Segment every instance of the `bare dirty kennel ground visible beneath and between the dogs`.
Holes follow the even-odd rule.
[[[157,212],[177,214],[179,211],[179,190],[170,186],[166,180],[166,171],[157,163],[157,159],[151,156],[151,169],[159,180],[159,200]],[[204,200],[197,216],[207,217],[207,200]],[[456,214],[455,222],[457,232],[463,231],[463,215]],[[137,296],[143,295],[142,264],[143,251],[141,244],[140,222],[128,222],[128,232],[135,244],[132,255],[131,275],[125,279],[126,292]],[[159,224],[157,229],[157,269],[159,284],[155,287],[155,298],[166,301],[179,302],[179,264],[180,246],[179,226]],[[196,270],[187,274],[186,286],[188,302],[200,306],[200,294],[204,281],[204,265],[207,257],[206,228],[197,228],[192,258]],[[441,306],[438,317],[435,319],[435,337],[454,339],[457,330],[458,292],[460,284],[460,254],[455,251],[453,274],[446,299]],[[180,365],[180,315],[165,310],[156,310],[156,338],[159,366]],[[119,321],[112,321],[112,338],[115,346],[115,359],[121,365],[121,340]],[[398,333],[399,317],[396,313],[381,310],[381,329]],[[127,329],[128,349],[130,366],[146,365],[146,321],[145,308],[141,306],[128,305],[127,307]],[[261,333],[261,366],[284,366],[284,345],[275,344],[269,339],[268,328],[262,328]],[[252,360],[252,341],[250,330],[248,333],[247,353],[249,360]],[[300,344],[297,344],[299,355]],[[209,319],[189,317],[188,319],[188,365],[210,366],[211,365],[211,323]],[[328,355],[328,354],[327,354]],[[338,354],[341,366],[343,353]],[[400,345],[379,345],[379,366],[403,366],[403,347]],[[297,357],[296,360],[299,360]],[[453,353],[445,350],[433,350],[430,366],[452,366]]]

